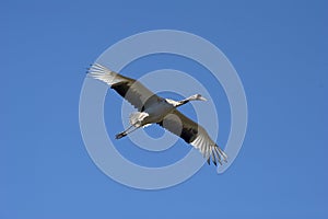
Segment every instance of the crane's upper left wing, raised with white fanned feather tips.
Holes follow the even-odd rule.
[[[161,99],[139,81],[110,71],[99,64],[91,66],[89,76],[107,83],[119,95],[138,108],[138,111],[143,111],[148,104],[152,104]]]

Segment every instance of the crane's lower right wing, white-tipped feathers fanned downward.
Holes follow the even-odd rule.
[[[221,148],[209,137],[203,127],[186,117],[179,111],[174,110],[168,114],[161,123],[160,126],[169,130],[171,132],[183,138],[187,143],[190,143],[197,148],[204,158],[210,159],[216,165],[216,161],[222,164],[222,161],[226,162],[226,154]]]

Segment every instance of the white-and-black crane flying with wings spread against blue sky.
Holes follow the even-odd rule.
[[[177,110],[190,101],[207,101],[202,95],[195,94],[181,101],[164,99],[150,91],[138,80],[112,71],[99,64],[91,65],[87,76],[108,84],[138,110],[129,117],[130,126],[117,134],[116,139],[141,127],[157,124],[198,149],[207,159],[208,164],[210,164],[210,160],[215,166],[218,163],[222,165],[223,162],[227,162],[227,155],[210,138],[207,130]]]

